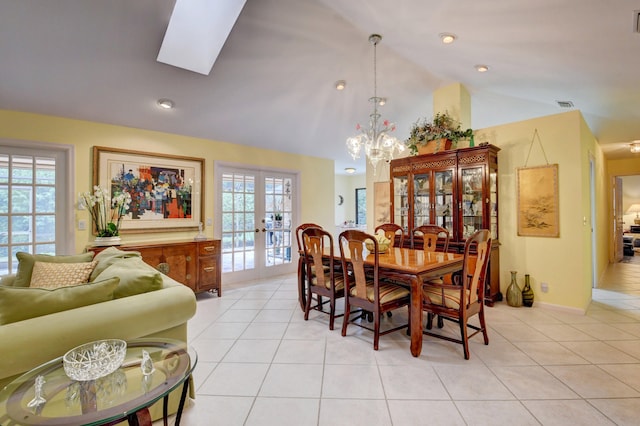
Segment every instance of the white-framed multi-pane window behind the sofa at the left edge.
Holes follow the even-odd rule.
[[[70,146],[0,141],[0,275],[16,272],[16,253],[75,251],[68,194]]]

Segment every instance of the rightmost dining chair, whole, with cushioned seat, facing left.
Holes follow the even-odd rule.
[[[422,286],[422,310],[428,314],[426,330],[422,333],[462,344],[465,359],[469,359],[469,338],[482,333],[484,344],[489,344],[484,319],[484,286],[490,252],[490,232],[486,229],[477,231],[465,242],[462,274],[455,276],[455,282],[428,282]],[[457,322],[460,327],[460,339],[432,332],[432,320],[435,315],[439,321],[446,319]],[[469,323],[469,318],[474,315],[478,315],[479,327]],[[440,323],[438,327],[441,328]],[[473,333],[469,334],[469,329],[472,329]]]

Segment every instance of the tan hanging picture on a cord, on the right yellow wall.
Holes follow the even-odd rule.
[[[519,168],[518,235],[559,237],[558,165]]]

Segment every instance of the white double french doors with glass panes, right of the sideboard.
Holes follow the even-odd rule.
[[[293,272],[296,175],[219,168],[217,221],[225,282]]]

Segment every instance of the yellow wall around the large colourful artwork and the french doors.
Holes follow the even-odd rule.
[[[91,190],[93,146],[204,158],[205,218],[213,218],[213,226],[205,227],[205,233],[209,237],[213,237],[214,228],[219,226],[219,218],[214,217],[216,199],[213,182],[214,161],[300,172],[300,223],[315,222],[328,229],[333,229],[335,226],[333,209],[335,173],[332,160],[130,127],[6,110],[0,110],[0,138],[73,145],[76,193]],[[295,168],[292,168],[292,165],[295,165]],[[76,224],[79,219],[89,221],[88,212],[76,210],[75,213]],[[190,231],[124,234],[122,238],[125,242],[190,239],[195,233]],[[93,236],[89,231],[76,229],[77,252],[83,251],[92,240]]]

